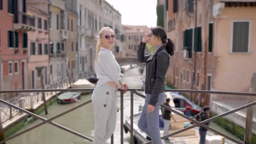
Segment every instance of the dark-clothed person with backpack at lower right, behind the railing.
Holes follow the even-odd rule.
[[[203,111],[199,113],[199,120],[200,122],[207,120],[210,118],[210,108],[209,107],[204,107]],[[205,123],[205,125],[209,125],[209,123]],[[200,126],[199,128],[199,134],[200,134],[200,142],[199,144],[205,144],[205,138],[206,138],[206,133],[208,129]]]

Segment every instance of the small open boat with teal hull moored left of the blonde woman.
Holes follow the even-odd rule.
[[[58,104],[69,104],[74,101],[79,101],[81,98],[80,92],[65,92],[61,93],[59,96],[57,96],[57,102]]]

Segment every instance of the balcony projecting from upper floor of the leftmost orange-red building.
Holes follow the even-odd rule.
[[[27,32],[35,30],[35,17],[26,13],[19,12],[14,16],[14,30],[16,32]]]

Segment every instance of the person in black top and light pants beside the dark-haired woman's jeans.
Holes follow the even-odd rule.
[[[165,103],[163,103],[163,105],[167,106],[167,107],[171,107],[170,104],[170,99],[166,98]],[[170,125],[171,125],[171,118],[174,120],[174,122],[176,122],[175,118],[173,117],[173,115],[171,114],[171,111],[169,111],[168,109],[165,109],[164,107],[162,107],[162,120],[164,123],[164,127],[163,127],[163,135],[167,135]],[[165,139],[165,141],[169,141],[168,138]]]

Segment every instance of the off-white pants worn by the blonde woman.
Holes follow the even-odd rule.
[[[107,84],[102,84],[93,91],[93,144],[104,144],[115,131],[117,118],[116,92],[117,89]]]

